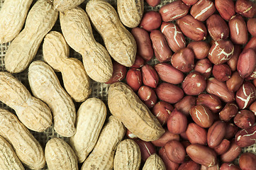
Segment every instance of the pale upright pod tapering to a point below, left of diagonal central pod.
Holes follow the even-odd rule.
[[[70,138],[79,163],[84,162],[94,149],[105,120],[106,106],[99,98],[88,98],[79,107],[75,124],[77,132]]]

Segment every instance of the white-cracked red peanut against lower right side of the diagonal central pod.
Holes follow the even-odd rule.
[[[169,103],[165,101],[159,101],[152,108],[152,113],[155,115],[161,125],[165,125],[173,109],[173,106]]]

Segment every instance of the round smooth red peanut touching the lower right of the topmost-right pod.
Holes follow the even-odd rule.
[[[162,18],[156,11],[149,11],[144,13],[143,18],[140,21],[140,28],[145,30],[155,30],[161,26]]]

